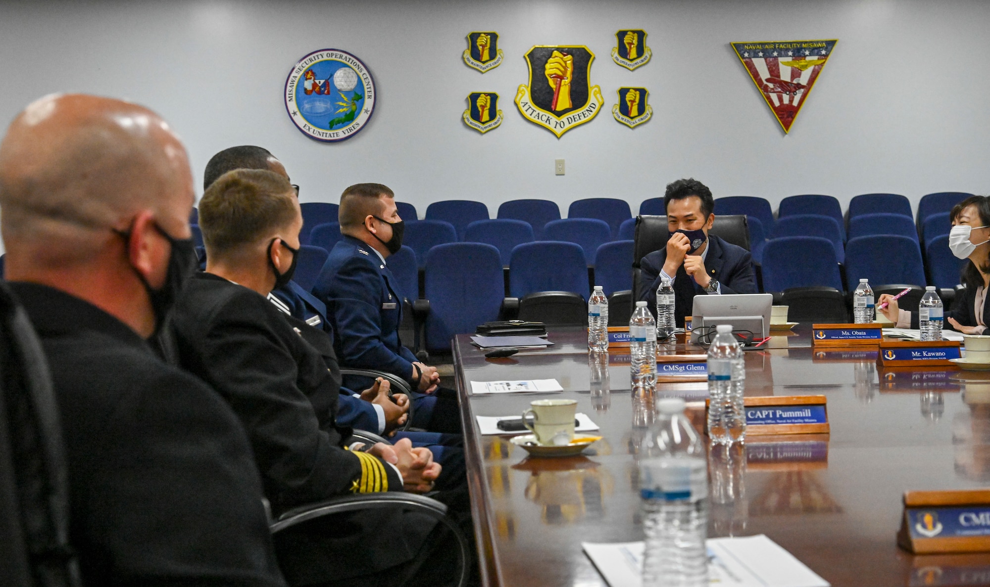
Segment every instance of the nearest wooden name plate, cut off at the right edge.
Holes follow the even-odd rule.
[[[897,544],[915,554],[990,551],[990,490],[905,492]]]

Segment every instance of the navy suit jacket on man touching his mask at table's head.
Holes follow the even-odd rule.
[[[660,270],[667,260],[666,247],[646,255],[640,261],[643,279],[637,299],[646,302],[650,311],[655,311],[656,289],[660,287]],[[708,254],[705,257],[705,270],[708,275],[722,285],[722,293],[759,293],[756,288],[756,272],[752,256],[743,247],[728,243],[708,235]],[[684,326],[684,316],[690,316],[694,308],[694,296],[704,295],[705,290],[694,283],[687,275],[683,264],[674,276],[674,316],[677,326]]]

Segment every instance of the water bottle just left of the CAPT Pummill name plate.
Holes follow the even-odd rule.
[[[745,359],[730,324],[715,327],[718,333],[708,348],[708,436],[728,445],[745,438]]]

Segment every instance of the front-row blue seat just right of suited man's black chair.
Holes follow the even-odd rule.
[[[836,248],[821,236],[784,236],[767,241],[762,270],[765,292],[813,286],[843,290]]]

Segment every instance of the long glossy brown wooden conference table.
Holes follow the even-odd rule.
[[[580,543],[643,540],[636,455],[649,408],[632,397],[628,354],[610,355],[608,390],[592,396],[585,331],[548,339],[553,347],[507,359],[454,340],[485,585],[605,585]],[[990,553],[914,556],[895,542],[905,490],[990,485],[990,372],[884,370],[875,348],[812,349],[804,324],[769,344],[745,353],[745,394],[824,394],[832,432],[713,449],[708,536],[765,534],[835,587],[990,584]],[[537,378],[556,378],[563,393],[470,394],[471,380]],[[706,382],[659,383],[657,394],[685,396],[700,427]],[[474,416],[520,414],[547,395],[577,399],[604,438],[580,457],[528,459],[507,437],[479,434]]]

